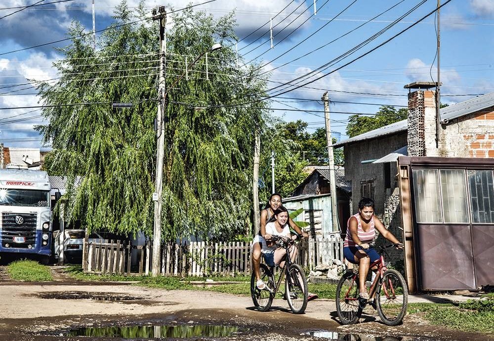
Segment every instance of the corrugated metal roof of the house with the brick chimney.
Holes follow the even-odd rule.
[[[444,122],[445,120],[453,120],[463,115],[470,114],[475,111],[486,109],[492,106],[494,106],[494,92],[486,93],[485,95],[468,99],[464,102],[456,103],[448,107],[444,107],[440,110],[439,115],[441,117],[441,120]],[[365,141],[379,136],[391,135],[400,131],[406,131],[407,129],[407,120],[402,120],[354,137],[350,137],[346,140],[333,144],[333,147],[337,148],[352,142]]]

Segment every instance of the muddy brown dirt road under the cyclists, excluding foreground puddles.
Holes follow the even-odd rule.
[[[334,301],[325,299],[311,301],[305,314],[293,315],[282,299],[275,300],[271,311],[260,313],[253,309],[249,297],[207,291],[166,291],[120,283],[26,284],[4,280],[0,281],[0,298],[2,341],[114,341],[122,339],[69,337],[67,331],[87,326],[170,324],[239,329],[234,336],[214,340],[490,340],[429,326],[410,316],[401,326],[387,327],[372,310],[362,323],[341,326],[334,318]],[[315,338],[317,331],[326,332],[316,333],[325,339]]]

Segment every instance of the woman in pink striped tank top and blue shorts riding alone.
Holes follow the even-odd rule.
[[[397,249],[403,249],[403,244],[374,215],[374,201],[369,198],[362,198],[359,202],[359,213],[348,219],[343,255],[349,262],[359,264],[359,296],[363,299],[369,299],[369,294],[366,292],[369,266],[373,261],[379,259],[377,251],[370,246],[375,238],[376,229],[390,242],[399,244]]]

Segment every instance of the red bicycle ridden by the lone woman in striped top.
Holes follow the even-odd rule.
[[[396,326],[403,321],[408,305],[407,283],[401,273],[387,269],[383,256],[383,253],[386,253],[385,249],[398,245],[401,244],[384,247],[371,245],[380,257],[369,266],[370,269],[377,266],[377,271],[368,290],[368,300],[359,298],[358,273],[348,270],[341,276],[336,287],[336,312],[342,324],[357,323],[368,303],[377,310],[384,324]]]

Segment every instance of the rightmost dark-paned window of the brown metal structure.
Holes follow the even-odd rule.
[[[494,222],[494,181],[492,171],[467,171],[470,205],[474,223]]]

